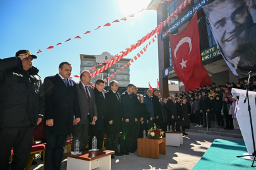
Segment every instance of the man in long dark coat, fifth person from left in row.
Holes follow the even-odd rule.
[[[110,89],[106,94],[106,107],[107,107],[107,139],[106,149],[114,150],[116,156],[123,156],[118,152],[118,137],[122,132],[122,112],[121,112],[121,99],[118,91],[118,82],[113,80],[109,82]],[[129,154],[129,152],[125,153]],[[111,155],[111,158],[114,158]]]

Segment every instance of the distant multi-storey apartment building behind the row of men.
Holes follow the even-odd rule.
[[[92,67],[96,67],[96,69],[100,69],[102,66],[98,65],[102,63],[104,65],[104,61],[107,60],[108,62],[111,62],[111,57],[114,57],[113,55],[109,54],[108,52],[103,52],[100,55],[87,55],[87,54],[80,54],[80,72],[86,71],[87,69],[90,69]],[[119,87],[126,87],[130,83],[130,65],[127,65],[128,67],[125,67],[124,65],[130,61],[130,59],[121,59],[116,64],[111,65],[108,69],[101,72],[97,76],[92,78],[92,83],[95,84],[95,81],[97,79],[106,79],[107,82],[105,83],[106,86],[109,86],[109,82],[112,80],[118,81]],[[124,67],[125,70],[122,70],[121,67]],[[120,71],[118,71],[120,70]],[[94,69],[90,70],[91,73],[95,72]],[[114,74],[116,72],[116,74]],[[111,77],[111,79],[107,79],[107,77],[110,77],[111,74],[113,74],[114,77]]]

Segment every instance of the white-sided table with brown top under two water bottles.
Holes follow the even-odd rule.
[[[67,169],[85,170],[95,169],[105,170],[111,169],[111,155],[114,154],[113,150],[85,151],[82,155],[74,156],[71,153],[63,154],[68,157]]]

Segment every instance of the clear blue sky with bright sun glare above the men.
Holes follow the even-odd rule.
[[[119,54],[157,26],[156,11],[135,13],[147,8],[149,3],[150,0],[1,0],[0,58],[13,57],[21,49],[35,53],[71,38],[69,42],[37,54],[34,66],[40,70],[42,79],[57,74],[59,63],[63,61],[72,64],[71,76],[79,74],[80,54],[97,55],[105,51],[111,55]],[[111,23],[129,14],[135,16]],[[111,26],[92,31],[106,23],[111,23]],[[82,39],[73,39],[86,31],[92,33],[83,35]],[[134,57],[147,42],[125,58]],[[157,41],[130,68],[131,83],[148,88],[150,82],[156,88],[156,79],[159,78]]]

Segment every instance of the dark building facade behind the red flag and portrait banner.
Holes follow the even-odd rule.
[[[184,0],[165,1],[157,8],[157,23],[160,23],[170,14],[172,14]],[[205,17],[202,6],[211,3],[214,0],[194,0],[188,4],[182,13],[179,13],[176,18],[171,20],[166,25],[158,37],[158,60],[159,60],[159,82],[160,93],[166,96],[168,93],[168,81],[178,81],[179,91],[185,91],[184,84],[180,81],[173,69],[173,61],[171,55],[171,47],[169,43],[169,36],[180,33],[189,21],[193,14],[197,11],[198,29],[200,35],[200,50],[202,64],[208,72],[212,82],[217,85],[225,84],[226,82],[238,82],[238,78],[230,71],[228,65],[224,61],[219,52],[212,31],[210,30],[209,22]],[[161,0],[152,0],[149,6],[157,5]]]

